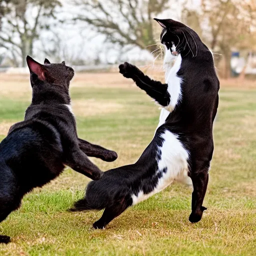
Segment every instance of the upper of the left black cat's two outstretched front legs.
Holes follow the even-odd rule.
[[[103,161],[112,162],[116,160],[117,153],[112,150],[108,150],[102,146],[91,144],[90,142],[78,138],[80,149],[87,155],[100,158]]]

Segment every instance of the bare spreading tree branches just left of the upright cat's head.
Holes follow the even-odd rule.
[[[169,0],[75,0],[84,11],[76,20],[85,21],[119,46],[138,46],[155,52],[158,38],[155,16],[167,10]],[[160,29],[160,28],[159,28]],[[159,32],[159,31],[158,31]]]

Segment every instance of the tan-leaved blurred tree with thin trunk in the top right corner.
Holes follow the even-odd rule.
[[[230,76],[231,50],[253,45],[256,6],[254,0],[202,0],[201,26],[204,40],[212,51],[219,51],[224,59],[223,76]],[[255,41],[254,41],[255,42]]]

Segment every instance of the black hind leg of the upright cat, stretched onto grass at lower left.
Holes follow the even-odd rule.
[[[96,229],[104,228],[111,220],[119,216],[128,206],[125,204],[116,204],[111,208],[105,208],[101,218],[93,223],[93,227]]]

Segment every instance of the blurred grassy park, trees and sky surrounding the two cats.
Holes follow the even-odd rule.
[[[202,220],[189,223],[191,188],[174,183],[94,231],[101,212],[67,212],[89,181],[67,169],[0,223],[12,237],[0,255],[256,255],[255,0],[0,0],[0,141],[31,102],[26,55],[47,57],[76,71],[70,94],[79,137],[118,153],[114,162],[91,160],[102,170],[135,162],[160,110],[118,64],[164,80],[154,17],[193,28],[220,78]]]

